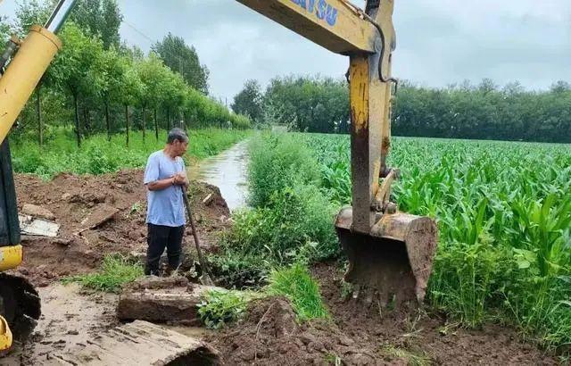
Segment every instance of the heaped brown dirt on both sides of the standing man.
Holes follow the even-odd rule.
[[[54,220],[61,225],[54,238],[22,237],[25,259],[18,271],[35,285],[46,286],[53,279],[94,270],[105,254],[144,254],[143,173],[142,170],[101,176],[64,173],[48,182],[33,175],[16,174],[19,208],[24,204],[40,206],[53,212]],[[190,194],[197,229],[203,245],[209,247],[215,243],[214,233],[228,225],[228,206],[217,187],[203,182],[192,181]],[[203,202],[209,195],[210,199]],[[94,218],[102,208],[107,212],[114,208],[116,213],[110,215],[110,220],[94,225]],[[187,251],[194,242],[190,229],[186,231]]]

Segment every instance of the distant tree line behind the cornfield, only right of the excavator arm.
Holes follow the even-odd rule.
[[[418,87],[403,83],[393,109],[399,136],[571,142],[571,92],[565,81],[546,91],[489,79],[472,86]]]

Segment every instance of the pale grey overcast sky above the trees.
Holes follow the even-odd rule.
[[[363,4],[362,1],[355,1]],[[228,103],[245,79],[342,77],[348,60],[331,54],[234,0],[119,0],[121,37],[148,50],[171,32],[193,45],[211,71],[213,96]],[[12,16],[16,0],[0,0]],[[393,74],[441,87],[491,78],[549,87],[571,81],[571,0],[396,0]]]

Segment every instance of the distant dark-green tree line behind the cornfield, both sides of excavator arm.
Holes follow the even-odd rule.
[[[257,123],[302,131],[346,133],[350,127],[344,80],[276,78],[265,91],[248,80],[232,109]],[[490,79],[443,88],[403,81],[393,99],[393,134],[568,143],[570,111],[571,86],[565,81],[545,91],[527,91],[517,82],[498,87]]]

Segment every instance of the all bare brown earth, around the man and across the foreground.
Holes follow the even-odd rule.
[[[16,347],[0,363],[43,364],[50,354],[85,343],[89,337],[119,324],[116,295],[82,292],[62,286],[62,276],[96,270],[104,254],[145,253],[145,187],[142,171],[120,171],[99,177],[62,174],[51,182],[17,175],[19,205],[37,204],[54,213],[62,225],[57,238],[26,237],[24,264],[18,270],[39,288],[42,318],[28,345]],[[205,247],[231,225],[216,187],[194,182],[192,205]],[[203,199],[213,194],[209,204]],[[98,204],[119,212],[94,229],[81,233],[82,220]],[[189,232],[187,234],[190,234]],[[186,247],[194,245],[186,237]],[[511,329],[490,325],[466,330],[426,313],[381,317],[375,306],[365,308],[343,298],[343,276],[336,262],[313,267],[331,320],[299,324],[287,299],[271,297],[250,305],[240,323],[221,331],[177,325],[177,331],[207,340],[228,365],[376,365],[410,362],[410,356],[433,364],[557,364],[534,345],[521,343]]]

